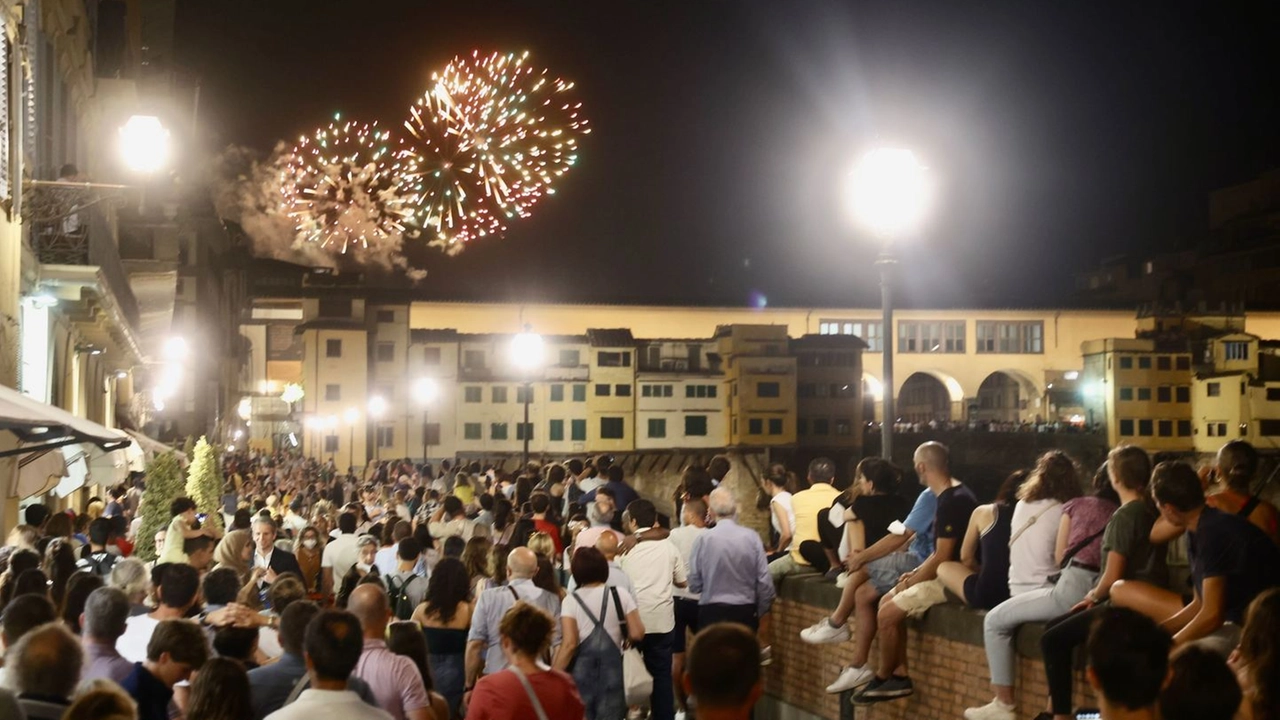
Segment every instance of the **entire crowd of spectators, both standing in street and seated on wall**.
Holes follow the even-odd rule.
[[[913,462],[914,498],[879,457],[768,468],[765,542],[724,456],[682,471],[669,518],[609,456],[232,454],[219,507],[173,498],[152,537],[145,477],[79,512],[31,505],[0,550],[0,716],[750,717],[777,588],[823,573],[840,603],[800,639],[852,641],[827,692],[855,705],[911,696],[908,620],[960,602],[984,611],[995,696],[968,720],[1016,716],[1027,623],[1046,624],[1042,719],[1075,717],[1080,650],[1103,717],[1280,720],[1280,515],[1248,443],[1201,473],[1121,446],[1083,477],[1052,451],[986,505],[945,446]]]

